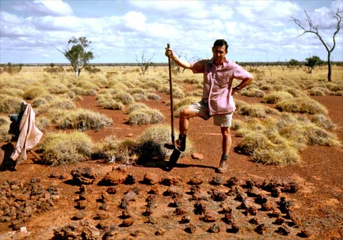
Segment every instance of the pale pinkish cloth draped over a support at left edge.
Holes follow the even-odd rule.
[[[25,109],[25,110],[24,110]],[[43,136],[41,132],[35,125],[35,113],[32,109],[31,104],[26,104],[25,101],[21,102],[21,110],[24,110],[23,117],[21,117],[21,122],[19,123],[19,137],[16,142],[16,147],[11,155],[13,160],[21,158],[26,160],[26,152],[36,146]]]

